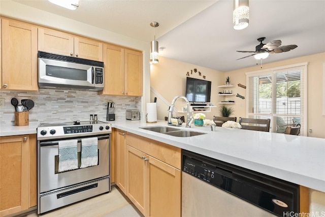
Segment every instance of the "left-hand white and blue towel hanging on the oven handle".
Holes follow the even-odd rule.
[[[62,140],[59,141],[59,172],[78,169],[78,140]]]

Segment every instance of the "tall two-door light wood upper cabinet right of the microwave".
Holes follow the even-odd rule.
[[[104,90],[99,94],[142,96],[142,52],[104,44]]]

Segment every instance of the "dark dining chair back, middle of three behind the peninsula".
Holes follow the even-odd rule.
[[[239,118],[239,124],[242,129],[257,130],[257,131],[270,131],[271,119],[256,119],[256,118]]]

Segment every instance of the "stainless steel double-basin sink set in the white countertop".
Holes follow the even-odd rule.
[[[177,137],[190,137],[190,136],[206,134],[197,131],[181,130],[181,129],[177,129],[173,127],[165,127],[165,126],[140,127],[140,129],[150,130],[153,132],[163,133],[166,135],[177,136]]]

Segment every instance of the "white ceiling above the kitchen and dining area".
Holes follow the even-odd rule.
[[[15,1],[53,14],[78,20],[144,42],[153,40],[155,28],[159,55],[229,71],[254,66],[254,57],[236,50],[255,51],[257,38],[264,43],[281,40],[298,45],[289,52],[270,54],[263,64],[325,52],[325,1],[250,0],[249,26],[234,30],[232,0],[124,1],[80,0],[70,11],[47,0]],[[325,61],[325,60],[324,60]]]

